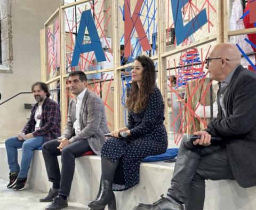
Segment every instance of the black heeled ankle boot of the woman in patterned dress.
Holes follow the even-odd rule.
[[[116,210],[116,198],[112,190],[112,182],[102,180],[98,199],[91,201],[88,206],[95,210],[100,210],[104,209],[106,205],[108,205],[109,210]]]

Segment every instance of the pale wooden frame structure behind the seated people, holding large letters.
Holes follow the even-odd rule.
[[[109,0],[106,0],[109,1]],[[106,2],[105,1],[105,2]],[[167,1],[167,0],[166,0]],[[170,0],[168,0],[170,2]],[[204,1],[204,0],[202,0]],[[82,0],[75,3],[71,3],[68,5],[60,6],[57,11],[53,13],[53,15],[45,22],[44,29],[41,30],[41,60],[42,60],[42,80],[46,82],[47,84],[52,84],[57,81],[60,82],[60,92],[61,92],[61,128],[62,131],[65,129],[66,126],[66,119],[67,119],[67,96],[66,96],[66,79],[67,79],[67,71],[66,71],[66,58],[65,58],[65,20],[64,20],[64,11],[68,9],[69,7],[74,7],[80,4],[84,4],[90,2],[89,0]],[[111,18],[112,18],[112,50],[114,55],[114,65],[111,69],[102,69],[102,70],[94,70],[90,72],[85,72],[86,74],[95,74],[99,72],[108,72],[113,71],[114,72],[114,126],[113,129],[119,128],[123,126],[123,120],[122,120],[122,111],[121,111],[121,69],[129,68],[132,66],[132,63],[126,64],[125,66],[120,65],[120,39],[118,35],[119,28],[119,3],[122,2],[119,1],[110,1],[111,2]],[[215,2],[216,5],[216,11],[217,11],[217,21],[215,22],[217,24],[216,26],[216,33],[210,36],[202,37],[198,40],[196,40],[193,43],[186,44],[186,45],[180,45],[176,46],[173,50],[166,50],[166,3],[163,3],[162,0],[155,0],[156,6],[157,6],[157,55],[151,56],[151,59],[153,61],[157,62],[157,77],[158,77],[158,87],[160,88],[163,98],[165,101],[165,104],[167,103],[167,59],[170,58],[170,56],[177,55],[179,53],[185,52],[189,49],[193,49],[193,47],[202,46],[204,44],[208,44],[211,42],[217,42],[217,43],[223,43],[228,42],[230,36],[236,36],[241,34],[251,34],[256,33],[256,28],[249,28],[249,29],[243,29],[243,30],[236,30],[236,31],[229,31],[228,22],[229,22],[229,1],[222,1],[217,0]],[[56,18],[59,18],[59,26],[60,26],[60,52],[57,56],[59,56],[60,59],[60,74],[58,76],[55,76],[53,78],[47,78],[46,72],[47,72],[47,27],[54,21]],[[202,61],[203,62],[203,61]],[[167,107],[167,106],[166,106]],[[167,114],[166,114],[167,119]],[[167,126],[167,120],[165,120],[165,124]]]

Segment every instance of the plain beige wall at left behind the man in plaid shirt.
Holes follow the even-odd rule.
[[[31,85],[41,79],[39,30],[62,1],[1,0],[0,7],[8,2],[12,23],[13,68],[8,73],[0,72],[0,103],[19,92],[29,92]],[[24,103],[34,103],[33,96],[19,95],[0,106],[0,141],[16,135],[26,124]]]

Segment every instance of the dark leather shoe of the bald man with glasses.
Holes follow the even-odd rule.
[[[184,210],[183,205],[173,204],[163,195],[153,204],[137,204],[133,210]]]

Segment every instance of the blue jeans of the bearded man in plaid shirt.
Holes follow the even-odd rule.
[[[12,137],[5,141],[5,148],[7,152],[7,159],[10,168],[10,173],[19,172],[20,178],[28,176],[28,169],[34,155],[34,150],[41,147],[44,143],[43,136],[36,136],[29,140],[18,140],[17,137]],[[21,165],[18,164],[18,151],[22,148]]]

